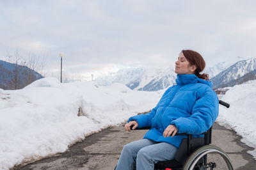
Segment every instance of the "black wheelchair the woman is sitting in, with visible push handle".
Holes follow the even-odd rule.
[[[229,104],[219,100],[219,104]],[[150,129],[150,127],[136,128]],[[232,162],[225,151],[217,146],[211,145],[212,127],[204,132],[204,137],[193,137],[190,134],[175,134],[187,135],[188,138],[182,139],[180,146],[173,160],[159,161],[155,164],[156,170],[206,170],[206,169],[228,169],[233,170]],[[134,166],[134,170],[136,166]]]

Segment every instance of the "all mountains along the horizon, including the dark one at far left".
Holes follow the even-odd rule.
[[[225,88],[256,79],[256,57],[205,68],[214,89]],[[115,82],[126,84],[131,89],[143,91],[157,91],[168,88],[175,83],[177,75],[174,66],[168,68],[124,68],[116,73],[109,73],[98,77],[94,81],[100,86],[108,86]],[[212,77],[212,78],[211,78]],[[43,78],[40,73],[27,66],[8,63],[0,60],[0,88],[20,89],[31,82]]]

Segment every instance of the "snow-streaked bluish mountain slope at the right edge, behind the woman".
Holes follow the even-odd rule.
[[[234,86],[256,79],[256,57],[238,61],[211,79],[213,88]]]

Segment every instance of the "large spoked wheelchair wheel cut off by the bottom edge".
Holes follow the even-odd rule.
[[[205,145],[195,150],[183,167],[184,170],[228,169],[233,166],[228,155],[217,146]]]

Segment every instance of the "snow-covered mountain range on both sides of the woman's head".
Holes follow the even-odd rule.
[[[205,68],[202,73],[209,74],[214,89],[232,87],[256,79],[256,57],[234,64],[218,63]],[[175,79],[174,67],[170,66],[165,69],[125,68],[116,73],[109,73],[106,77],[99,77],[95,81],[104,86],[120,82],[134,90],[157,91],[171,86]]]

